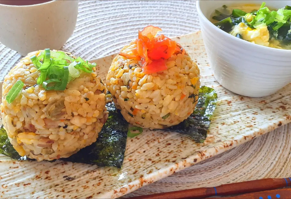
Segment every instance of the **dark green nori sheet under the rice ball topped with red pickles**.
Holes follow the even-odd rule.
[[[207,86],[202,86],[199,89],[198,102],[190,117],[182,121],[180,124],[161,130],[176,131],[178,133],[187,134],[194,141],[203,142],[207,136],[207,131],[210,126],[210,117],[215,110],[216,101],[217,94],[215,90]]]

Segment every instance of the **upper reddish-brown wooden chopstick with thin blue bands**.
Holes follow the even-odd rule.
[[[291,178],[266,178],[253,181],[223,184],[217,187],[202,187],[159,194],[129,197],[130,199],[191,199],[232,194],[245,194],[259,191],[268,191],[291,186]],[[290,193],[291,195],[291,193]],[[274,198],[274,197],[272,197]]]

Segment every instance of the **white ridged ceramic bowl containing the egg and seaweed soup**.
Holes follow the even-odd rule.
[[[291,50],[270,48],[234,37],[209,21],[211,13],[229,4],[262,4],[261,0],[197,1],[202,37],[215,79],[239,95],[265,97],[291,82]],[[268,1],[266,6],[282,8],[289,0]]]

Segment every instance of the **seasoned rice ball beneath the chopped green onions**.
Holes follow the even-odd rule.
[[[70,81],[63,91],[45,90],[37,85],[40,71],[30,59],[41,52],[29,53],[5,76],[2,120],[21,156],[37,161],[67,158],[96,141],[108,118],[106,88],[93,68],[92,73],[81,73]],[[9,104],[6,96],[18,80],[24,86]]]

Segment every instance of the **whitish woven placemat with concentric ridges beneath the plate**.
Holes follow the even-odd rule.
[[[168,37],[196,32],[196,1],[79,1],[75,32],[62,50],[84,59],[118,52],[147,25]],[[21,59],[0,43],[0,80]],[[281,126],[124,197],[291,176],[290,125]],[[289,174],[289,176],[288,176]]]

